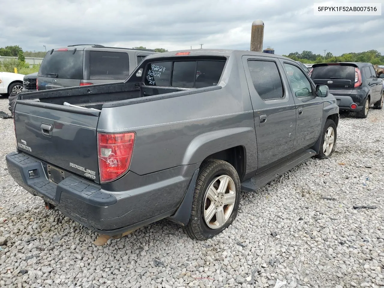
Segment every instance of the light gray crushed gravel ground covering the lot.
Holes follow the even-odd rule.
[[[384,287],[383,124],[384,111],[343,115],[331,159],[242,194],[237,219],[213,239],[162,220],[96,247],[96,233],[8,175],[13,125],[0,119],[0,287]]]

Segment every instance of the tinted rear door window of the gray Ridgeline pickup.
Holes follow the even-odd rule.
[[[275,62],[248,60],[248,68],[260,98],[272,100],[284,97],[283,84]]]

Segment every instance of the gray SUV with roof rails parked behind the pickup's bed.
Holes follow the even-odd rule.
[[[122,82],[148,55],[150,49],[70,45],[48,51],[41,63],[37,89],[55,89]]]

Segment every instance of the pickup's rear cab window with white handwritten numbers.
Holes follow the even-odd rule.
[[[225,60],[175,60],[147,65],[144,84],[180,88],[215,86],[220,80]]]

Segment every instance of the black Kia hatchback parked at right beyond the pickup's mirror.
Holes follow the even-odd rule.
[[[372,104],[375,109],[383,107],[384,74],[377,76],[371,63],[314,64],[310,76],[314,83],[329,87],[340,111],[354,111],[359,118],[366,118]]]

